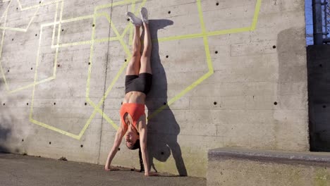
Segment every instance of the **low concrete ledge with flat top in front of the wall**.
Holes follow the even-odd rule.
[[[329,185],[329,167],[329,154],[213,149],[207,185]]]

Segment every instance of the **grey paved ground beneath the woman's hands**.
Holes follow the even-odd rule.
[[[206,185],[203,178],[173,175],[145,178],[143,173],[127,168],[110,172],[103,168],[89,163],[0,154],[0,185]]]

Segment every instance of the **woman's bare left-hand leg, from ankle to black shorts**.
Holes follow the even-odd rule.
[[[141,41],[140,41],[140,26],[135,25],[135,32],[133,36],[133,50],[132,58],[126,68],[126,75],[139,75],[140,58],[141,58]]]

